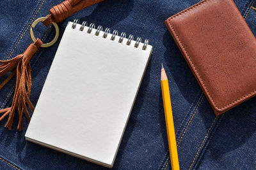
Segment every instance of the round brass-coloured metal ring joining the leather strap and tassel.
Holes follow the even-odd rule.
[[[31,36],[31,39],[32,39],[32,41],[33,42],[35,42],[36,41],[36,38],[35,38],[35,35],[34,35],[34,32],[33,32],[33,28],[35,28],[35,25],[36,24],[38,24],[39,22],[41,22],[42,20],[44,20],[46,17],[41,17],[41,18],[38,18],[38,19],[36,19],[34,22],[33,22],[33,24],[31,24],[31,27],[30,27],[30,36]],[[56,22],[52,22],[52,25],[54,26],[54,28],[55,28],[55,36],[54,36],[54,38],[52,39],[52,41],[50,42],[50,43],[44,43],[44,44],[42,44],[41,46],[42,47],[48,47],[48,46],[51,46],[51,45],[53,45],[56,41],[57,41],[57,39],[58,39],[58,37],[59,37],[59,27],[58,27],[58,25],[56,24]]]

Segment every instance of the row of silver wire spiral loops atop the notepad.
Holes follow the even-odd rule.
[[[78,19],[75,19],[73,24],[72,24],[72,29],[76,29],[76,25],[79,24],[79,20]],[[88,23],[86,21],[83,22],[83,24],[81,25],[81,27],[79,28],[79,31],[84,31],[84,27],[88,27],[87,26]],[[90,24],[89,27],[88,27],[88,34],[90,34],[92,32],[92,30],[95,29],[95,24]],[[95,36],[99,36],[100,34],[100,31],[103,31],[103,27],[102,25],[99,25],[97,27],[97,30],[95,32]],[[107,27],[104,31],[104,34],[103,34],[103,38],[107,38],[108,37],[108,34],[111,34],[111,31],[110,29]],[[117,30],[114,30],[113,33],[112,33],[112,36],[111,36],[111,40],[112,41],[115,41],[115,38],[116,36],[118,36],[118,31]],[[118,39],[118,43],[123,43],[124,39],[126,39],[126,33],[125,32],[122,32],[120,34],[120,38]],[[134,39],[134,36],[132,34],[129,35],[128,39],[127,39],[127,42],[126,42],[126,45],[131,45],[131,42],[133,41]],[[134,47],[135,48],[138,48],[140,46],[140,43],[141,43],[141,38],[138,37],[136,39],[136,42],[134,44]],[[146,50],[147,49],[147,46],[148,46],[148,39],[145,39],[144,41],[144,44],[142,46],[142,50]]]

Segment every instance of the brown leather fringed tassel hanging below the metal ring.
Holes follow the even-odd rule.
[[[19,115],[19,123],[17,125],[17,129],[19,131],[22,131],[23,129],[23,113],[26,115],[28,120],[31,119],[26,105],[28,104],[32,111],[35,110],[35,107],[29,100],[32,87],[30,60],[41,45],[42,41],[40,39],[36,39],[35,43],[29,45],[24,53],[17,55],[10,60],[0,60],[0,76],[4,76],[12,71],[12,74],[10,74],[10,76],[1,83],[0,90],[16,74],[16,88],[12,100],[12,106],[10,108],[0,110],[0,113],[3,113],[0,117],[0,121],[9,115],[5,127],[8,127],[10,131],[12,130],[16,110],[18,110],[17,112]]]

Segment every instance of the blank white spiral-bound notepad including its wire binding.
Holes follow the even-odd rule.
[[[152,53],[133,38],[68,22],[26,139],[112,167]]]

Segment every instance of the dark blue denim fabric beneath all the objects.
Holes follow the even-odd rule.
[[[0,59],[11,59],[24,52],[31,43],[29,26],[33,20],[45,17],[49,9],[61,1],[0,1]],[[164,25],[166,18],[198,2],[106,0],[58,24],[62,35],[67,21],[79,18],[81,21],[134,34],[135,37],[148,38],[154,47],[113,169],[170,169],[160,89],[161,62],[170,82],[180,169],[255,169],[256,98],[225,115],[215,117]],[[253,34],[256,34],[255,0],[235,0],[235,3]],[[44,42],[51,41],[54,29],[39,24],[35,34]],[[49,48],[41,48],[31,59],[31,101],[35,105],[60,39]],[[77,73],[74,76],[79,78],[83,74]],[[0,78],[0,81],[3,80]],[[13,78],[0,90],[0,108],[6,108],[12,103],[14,85]],[[1,169],[104,169],[86,160],[27,142],[24,139],[28,127],[26,118],[22,132],[15,130],[17,120],[13,130],[8,131],[4,128],[6,120],[4,118],[0,122]]]

